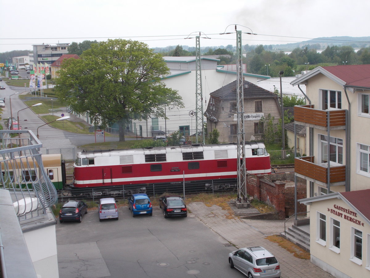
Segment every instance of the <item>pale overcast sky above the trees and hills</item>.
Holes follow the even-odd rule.
[[[369,0],[0,0],[0,11],[0,52],[119,37],[195,46],[199,32],[211,38],[201,47],[235,46],[235,24],[258,34],[242,34],[243,45],[370,36]]]

